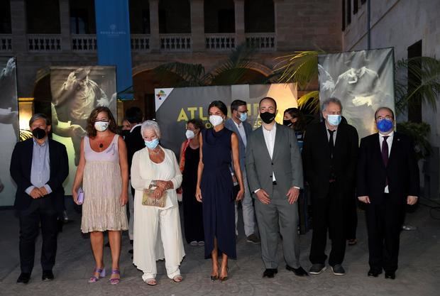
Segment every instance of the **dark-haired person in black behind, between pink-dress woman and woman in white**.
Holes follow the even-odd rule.
[[[143,121],[143,114],[141,109],[134,106],[126,110],[126,121],[131,126],[129,133],[126,134],[124,138],[127,146],[127,158],[128,158],[128,168],[131,168],[131,160],[133,160],[133,155],[136,151],[145,148],[145,141],[141,135],[141,126]],[[130,219],[128,220],[128,238],[130,239],[131,245],[133,245],[133,204],[134,204],[134,188],[131,187],[131,182],[128,192],[128,211],[130,212]],[[130,194],[131,193],[131,194]],[[133,253],[133,249],[128,250],[128,253]]]

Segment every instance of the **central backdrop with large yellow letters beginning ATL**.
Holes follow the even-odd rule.
[[[162,131],[160,143],[172,149],[177,157],[180,145],[185,141],[185,126],[189,119],[200,118],[207,128],[208,105],[220,100],[229,106],[235,99],[248,103],[248,122],[253,129],[260,126],[258,103],[263,97],[273,97],[277,102],[276,121],[282,124],[284,110],[297,106],[297,89],[293,84],[255,84],[229,85],[216,87],[182,87],[155,89],[156,120]]]

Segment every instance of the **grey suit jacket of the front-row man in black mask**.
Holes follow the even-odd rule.
[[[295,131],[280,124],[276,125],[273,159],[270,159],[264,141],[263,126],[257,128],[248,137],[246,172],[251,192],[262,188],[272,196],[272,172],[275,173],[281,192],[287,193],[290,187],[303,187],[302,160]]]

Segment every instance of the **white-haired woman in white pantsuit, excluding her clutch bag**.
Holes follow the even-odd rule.
[[[146,148],[133,155],[131,185],[134,196],[133,263],[143,271],[148,285],[156,285],[156,261],[165,257],[168,278],[182,281],[180,262],[185,256],[180,230],[176,189],[182,182],[177,159],[172,150],[159,145],[160,128],[155,121],[145,121],[141,127]],[[155,197],[166,190],[165,207],[144,206],[143,190],[155,185]]]

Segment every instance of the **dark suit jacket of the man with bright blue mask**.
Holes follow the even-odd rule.
[[[392,138],[388,165],[382,160],[379,134],[361,140],[358,161],[357,195],[370,197],[372,204],[383,202],[385,181],[392,203],[406,202],[408,195],[419,196],[419,167],[415,158],[412,141],[402,133],[395,133]]]

